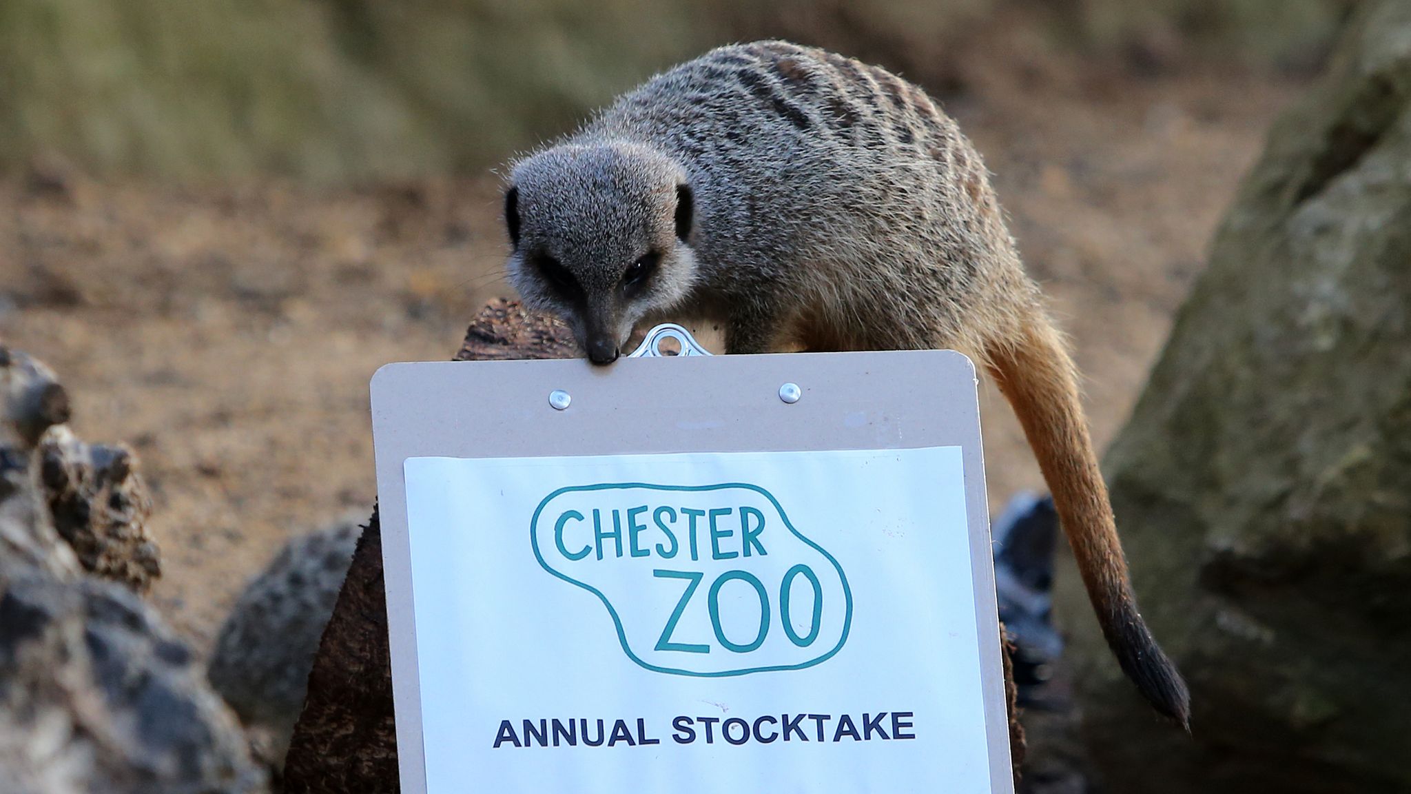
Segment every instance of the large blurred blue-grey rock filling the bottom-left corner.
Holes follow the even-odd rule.
[[[4,564],[0,790],[267,788],[240,725],[151,606],[114,582]]]

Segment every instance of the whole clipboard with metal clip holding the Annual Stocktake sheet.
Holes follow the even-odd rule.
[[[662,355],[663,340],[674,343],[677,355]],[[610,367],[581,359],[381,367],[371,380],[371,403],[402,791],[439,794],[449,788],[449,778],[459,781],[457,791],[502,791],[511,784],[492,781],[528,786],[523,781],[539,774],[550,776],[543,780],[573,780],[559,788],[586,793],[749,791],[763,780],[770,781],[769,790],[820,790],[801,783],[790,788],[770,776],[785,774],[777,771],[783,767],[807,776],[828,764],[838,764],[841,771],[828,773],[834,784],[827,790],[866,791],[871,784],[849,784],[848,774],[883,769],[878,764],[886,762],[888,753],[903,759],[903,766],[931,763],[913,757],[914,747],[921,746],[916,736],[923,735],[969,750],[954,762],[958,766],[948,767],[952,762],[937,756],[928,771],[909,773],[917,780],[916,790],[1012,794],[976,383],[974,365],[952,350],[711,356],[674,325],[658,326],[636,353]],[[611,472],[597,478],[610,482],[583,473],[598,470]],[[779,485],[766,487],[725,476],[735,470],[752,472],[759,483]],[[882,473],[848,475],[865,470]],[[618,482],[617,472],[635,479]],[[950,485],[924,485],[933,473],[948,478]],[[710,482],[696,482],[701,476]],[[862,482],[866,476],[882,479],[866,485]],[[505,487],[532,489],[536,478],[543,480],[545,496],[532,519],[529,502],[499,504]],[[509,485],[492,485],[501,479]],[[499,487],[499,496],[487,487]],[[790,499],[776,499],[772,489]],[[947,514],[954,520],[944,526],[928,527],[928,521],[914,516],[907,520],[897,513],[889,530],[875,527],[864,514],[864,509],[873,507],[869,500],[883,499],[878,494],[890,494],[886,503],[896,504],[912,497],[931,499],[931,490],[947,489],[954,493],[937,499],[951,499],[952,513]],[[848,494],[848,503],[830,507],[825,503],[834,494]],[[626,502],[612,502],[619,496]],[[707,504],[701,499],[715,502]],[[634,500],[641,503],[636,516],[629,514],[638,510],[631,506]],[[658,523],[650,527],[648,516],[658,503]],[[689,506],[697,503],[698,509]],[[710,507],[717,503],[721,507]],[[876,511],[883,513],[888,504],[878,502]],[[701,517],[697,533],[694,513],[704,516],[707,510],[720,513],[720,526],[713,514],[707,531]],[[684,528],[687,514],[693,521],[690,538]],[[624,530],[622,523],[614,527],[610,516],[629,528]],[[875,535],[875,543],[855,541],[847,527],[831,527],[830,516],[854,516],[849,520],[862,527],[858,537]],[[800,523],[807,526],[797,527]],[[704,551],[697,550],[697,535]],[[830,540],[818,540],[824,535]],[[957,554],[914,551],[931,550],[926,544],[940,543],[937,538],[945,538],[951,544],[947,548]],[[698,561],[687,559],[687,540],[690,558],[696,559],[700,551]],[[840,544],[848,547],[847,554],[838,550]],[[873,545],[878,559],[869,557]],[[641,551],[645,551],[642,559],[635,559]],[[742,557],[751,551],[752,557]],[[538,568],[528,562],[531,554],[538,557]],[[837,571],[824,557],[838,557],[832,561]],[[751,574],[751,565],[763,565],[766,559],[776,568]],[[800,562],[789,568],[779,585],[779,567],[794,559]],[[501,585],[501,591],[476,589],[508,575],[504,572],[514,565],[523,568],[516,568],[519,574]],[[691,572],[691,565],[701,571]],[[931,575],[931,565],[950,565],[951,574],[940,582],[943,576]],[[687,571],[673,574],[674,568]],[[632,576],[641,581],[612,591],[626,576],[615,574],[621,571],[639,572]],[[683,598],[682,588],[697,585],[673,576],[696,576],[700,586],[694,600]],[[896,592],[886,602],[873,593],[882,585],[868,585],[886,582],[889,576],[914,576],[916,592],[931,593],[930,588],[944,585],[952,588],[944,592],[964,598],[941,599],[944,603],[907,600],[906,609],[924,616],[916,617],[914,626],[896,627],[893,623],[902,620],[897,616],[910,613],[899,612]],[[634,613],[667,609],[667,602],[638,608],[650,600],[641,598],[649,592],[642,588],[667,585],[676,588],[669,596],[679,608],[674,617],[663,620],[665,612]],[[505,596],[504,609],[484,609],[495,593],[511,591],[514,595]],[[844,591],[845,599],[840,595]],[[790,593],[793,616],[780,612]],[[752,606],[751,599],[758,599],[759,606]],[[700,606],[706,602],[710,610]],[[827,609],[816,609],[810,623],[806,602],[824,603]],[[841,612],[844,602],[847,613]],[[549,603],[562,612],[539,617],[535,610]],[[721,617],[715,615],[718,603],[735,612],[758,610],[758,632],[749,623],[753,612],[748,619]],[[737,603],[751,606],[737,608]],[[694,619],[698,624],[691,624],[689,616],[697,608],[701,616]],[[490,616],[480,615],[483,609]],[[512,620],[501,619],[505,610],[519,609],[528,610],[526,617],[516,612]],[[706,612],[714,620],[715,639],[707,629]],[[770,619],[766,612],[777,615]],[[542,623],[555,620],[563,622],[559,633],[539,632]],[[741,620],[749,627],[741,627]],[[769,620],[773,622],[766,626]],[[658,623],[670,623],[674,630],[658,637]],[[907,658],[902,664],[896,660],[906,651],[882,647],[883,640],[876,640],[878,647],[868,644],[892,636],[886,634],[890,630],[913,633],[920,637],[917,647],[931,647],[923,634],[935,626],[952,629],[950,639],[934,640],[941,648],[938,660]],[[845,634],[845,643],[837,640],[840,633]],[[969,640],[957,646],[957,636]],[[758,646],[752,648],[755,640]],[[521,641],[540,646],[523,651],[516,646]],[[951,644],[945,646],[947,641]],[[834,644],[838,647],[832,648]],[[832,656],[824,657],[830,648]],[[755,664],[751,654],[761,653],[768,658]],[[498,658],[512,654],[523,656],[518,661]],[[738,699],[715,704],[727,709],[715,716],[697,715],[701,704],[687,708],[680,701],[655,716],[594,715],[581,701],[573,701],[580,711],[553,713],[555,709],[543,706],[552,701],[536,699],[545,688],[552,688],[552,681],[515,681],[521,671],[532,677],[555,670],[550,657],[564,667],[573,667],[573,660],[593,660],[574,668],[601,672],[597,680],[605,692],[617,685],[645,691],[646,699],[641,701],[645,705],[639,709],[643,713],[658,702],[672,701],[677,691],[697,701],[710,701],[696,695],[715,691],[693,687],[721,687],[720,691]],[[952,657],[959,672],[930,677],[927,671],[933,667],[951,670],[945,660]],[[889,674],[893,663],[900,667]],[[484,675],[495,678],[471,675],[467,672],[471,670],[485,670]],[[783,709],[749,709],[751,698],[769,701],[804,675],[816,677],[807,680],[810,692],[837,692],[841,705],[832,711],[840,713],[813,711],[823,708],[817,702],[831,695],[809,704],[785,704]],[[834,681],[828,675],[841,675],[841,682],[828,684]],[[848,712],[849,694],[866,689],[864,684],[871,684],[871,678],[878,680],[878,687],[886,685],[888,678],[913,687],[924,692],[917,697],[926,702],[927,698],[935,698],[937,704],[965,701],[968,711],[943,719],[916,709],[895,711],[903,708],[899,702],[878,702],[875,709]],[[526,702],[538,704],[533,709],[512,708],[516,687],[528,692]],[[581,689],[579,685],[566,691],[576,692],[576,698]],[[622,705],[628,701],[608,702],[617,711],[631,711]],[[666,719],[665,715],[676,712],[680,712],[676,718]],[[813,716],[828,716],[828,722]],[[601,726],[594,718],[604,721]],[[727,722],[731,730],[722,735]],[[706,726],[713,729],[710,745],[704,743]],[[619,736],[619,729],[626,736]],[[686,729],[690,742],[683,742]],[[607,746],[610,730],[615,747]],[[598,745],[588,742],[594,737]],[[739,763],[732,763],[737,759]],[[555,774],[560,777],[553,778]],[[720,780],[701,780],[703,776]],[[968,783],[948,786],[951,776]],[[982,784],[976,783],[981,780]],[[892,784],[896,786],[892,790],[907,790],[906,783]]]

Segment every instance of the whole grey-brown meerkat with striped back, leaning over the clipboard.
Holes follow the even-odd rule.
[[[727,353],[950,348],[1013,405],[1122,670],[1188,726],[1137,612],[1078,376],[979,154],[917,86],[823,49],[714,49],[518,160],[511,283],[614,362],[639,325],[717,322]]]

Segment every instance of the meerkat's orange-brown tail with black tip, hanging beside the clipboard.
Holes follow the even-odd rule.
[[[1137,612],[1062,338],[1041,309],[1033,309],[1017,333],[986,346],[985,355],[1038,458],[1108,646],[1141,695],[1189,730],[1185,681]]]

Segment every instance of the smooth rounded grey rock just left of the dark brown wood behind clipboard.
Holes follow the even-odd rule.
[[[240,593],[216,637],[206,677],[277,774],[360,534],[357,520],[343,520],[291,540]]]

